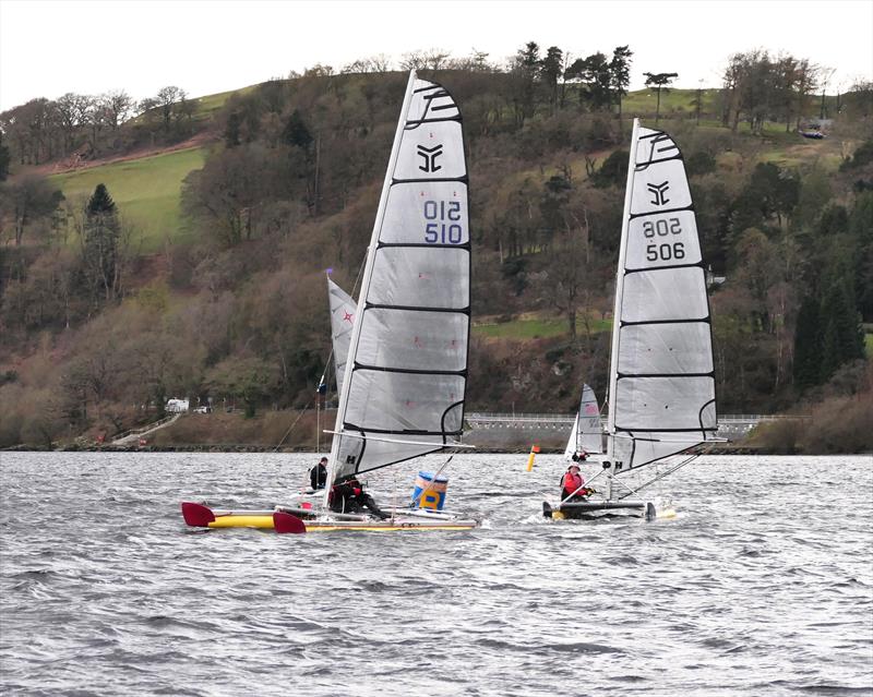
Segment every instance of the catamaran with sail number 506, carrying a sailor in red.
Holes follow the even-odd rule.
[[[585,483],[595,493],[543,503],[547,517],[656,515],[639,492],[718,440],[706,273],[687,177],[673,140],[638,120],[624,195],[608,400],[606,457]]]

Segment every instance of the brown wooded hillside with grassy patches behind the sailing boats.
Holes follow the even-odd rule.
[[[577,100],[555,110],[536,93],[539,104],[525,116],[514,108],[511,75],[436,79],[465,105],[467,124],[475,248],[467,406],[572,410],[583,380],[606,387],[621,161],[630,117],[654,125],[655,97],[630,95],[619,120]],[[347,288],[359,278],[405,84],[400,73],[303,77],[211,95],[198,100],[198,128],[184,121],[163,140],[137,140],[147,154],[127,151],[125,159],[53,175],[80,212],[106,184],[139,228],[132,253],[142,259],[115,265],[115,248],[98,244],[113,238],[98,236],[92,215],[89,247],[58,248],[56,236],[39,232],[60,218],[46,217],[27,230],[31,247],[0,260],[8,279],[0,353],[10,356],[0,361],[0,447],[120,432],[158,413],[170,395],[256,408],[265,416],[251,433],[228,425],[232,442],[277,442],[284,430],[266,414],[311,404],[330,352],[322,269]],[[827,299],[806,303],[816,317],[806,312],[804,322],[834,336],[836,320],[861,302],[839,279],[861,279],[863,316],[873,312],[861,263],[873,254],[865,232],[873,194],[864,189],[873,187],[873,141],[857,148],[863,157],[851,171],[836,167],[840,149],[853,152],[869,129],[847,117],[823,141],[786,132],[785,123],[753,134],[742,121],[734,133],[717,123],[714,92],[699,125],[690,104],[696,91],[662,96],[659,125],[687,158],[704,257],[727,279],[710,297],[719,408],[794,407],[803,398],[792,347],[804,296],[812,288]],[[159,128],[153,118],[141,130]],[[156,149],[164,142],[182,149]],[[120,280],[111,275],[118,269]],[[579,312],[574,340],[559,312],[567,302]],[[833,375],[834,394],[856,389],[858,341],[827,348],[824,368],[798,374],[814,386]],[[231,442],[206,428],[235,417],[218,416],[186,420],[160,437]]]

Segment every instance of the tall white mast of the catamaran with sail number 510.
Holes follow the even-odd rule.
[[[406,116],[409,110],[409,103],[412,98],[412,86],[416,82],[416,71],[409,71],[409,80],[406,83],[406,93],[403,98],[403,107],[400,108],[400,116],[397,119],[397,130],[394,133],[394,144],[391,147],[391,156],[388,157],[388,166],[385,171],[385,181],[382,184],[382,194],[379,197],[379,208],[376,211],[375,221],[373,223],[373,232],[370,236],[370,247],[367,249],[367,264],[363,269],[363,280],[361,283],[361,291],[358,296],[361,300],[367,298],[367,292],[370,287],[370,279],[373,275],[373,260],[375,257],[376,243],[379,241],[379,232],[382,229],[382,220],[385,217],[385,206],[388,201],[388,191],[391,189],[391,181],[394,175],[394,168],[397,164],[397,154],[400,151],[400,140],[403,139],[404,125],[406,124]],[[339,393],[339,405],[336,410],[336,423],[334,425],[337,434],[334,435],[331,443],[331,457],[327,461],[327,485],[324,488],[324,507],[327,507],[327,497],[331,494],[331,486],[334,482],[336,473],[337,456],[339,455],[339,445],[343,436],[343,423],[345,422],[346,409],[348,404],[348,393],[351,381],[348,378],[348,368],[354,364],[355,357],[358,352],[358,343],[360,341],[361,324],[363,320],[362,312],[355,313],[355,324],[351,329],[351,340],[349,344],[348,357],[346,359],[346,378],[343,380],[343,388]]]

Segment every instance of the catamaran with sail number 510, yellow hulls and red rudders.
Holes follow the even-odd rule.
[[[442,509],[442,491],[429,495],[444,486],[439,477],[442,468],[435,474],[419,472],[423,483],[410,505],[385,508],[387,519],[335,512],[330,506],[333,485],[423,455],[469,447],[459,441],[467,382],[469,274],[461,111],[445,88],[411,71],[360,295],[357,303],[348,298],[354,317],[342,319],[351,320],[351,332],[342,371],[336,361],[339,405],[336,425],[328,432],[333,441],[327,486],[320,505],[235,512],[186,502],[186,521],[278,532],[477,527],[474,518]],[[337,336],[335,324],[333,334]],[[424,505],[428,502],[434,505]]]

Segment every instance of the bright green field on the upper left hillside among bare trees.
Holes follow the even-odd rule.
[[[68,200],[85,200],[94,188],[106,184],[125,221],[134,228],[134,245],[142,238],[142,252],[160,249],[170,238],[188,233],[181,216],[182,180],[203,167],[204,147],[165,153],[153,157],[111,163],[50,179]]]

